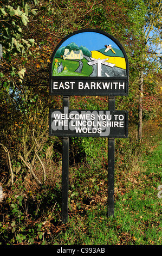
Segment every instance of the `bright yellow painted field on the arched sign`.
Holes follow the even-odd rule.
[[[115,64],[116,67],[121,68],[121,69],[126,69],[126,61],[125,58],[121,57],[110,57],[102,54],[101,52],[98,51],[92,51],[92,58],[95,59],[106,59],[108,58],[107,62]]]

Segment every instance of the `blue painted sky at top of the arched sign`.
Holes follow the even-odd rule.
[[[112,45],[112,47],[120,50],[118,45],[115,44],[110,38],[106,35],[103,35],[98,32],[81,32],[70,36],[63,44],[60,46],[67,46],[70,42],[75,42],[77,46],[85,46],[89,51],[100,50],[105,47],[105,45]]]

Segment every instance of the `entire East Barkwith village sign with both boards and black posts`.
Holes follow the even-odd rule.
[[[69,137],[108,138],[108,216],[114,214],[114,138],[127,138],[128,112],[115,111],[115,96],[128,95],[128,59],[120,42],[97,29],[64,38],[50,63],[50,95],[62,95],[62,109],[50,109],[49,136],[62,137],[62,221],[68,221]],[[73,95],[108,96],[108,110],[69,109]]]

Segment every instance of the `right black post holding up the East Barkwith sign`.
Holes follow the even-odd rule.
[[[115,110],[115,97],[108,97],[108,109]],[[114,215],[114,157],[115,139],[108,138],[108,217]]]

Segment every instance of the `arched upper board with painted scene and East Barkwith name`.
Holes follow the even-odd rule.
[[[120,42],[97,29],[66,36],[51,57],[50,95],[128,95],[128,59]]]

